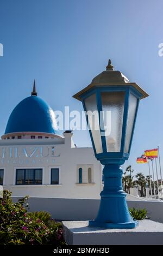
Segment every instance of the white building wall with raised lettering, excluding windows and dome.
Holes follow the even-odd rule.
[[[68,133],[65,139],[0,140],[0,169],[4,169],[4,189],[9,189],[17,197],[99,198],[102,190],[101,164],[96,160],[92,148],[74,147],[71,136]],[[25,153],[23,148],[26,148]],[[29,157],[35,148],[36,152]],[[49,156],[43,157],[48,150]],[[83,166],[83,184],[78,184],[78,166]],[[89,167],[92,168],[91,184],[86,183],[86,170]],[[42,184],[16,185],[16,169],[19,168],[42,168]],[[50,184],[51,168],[59,168],[59,184]]]

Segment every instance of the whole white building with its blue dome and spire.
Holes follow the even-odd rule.
[[[78,148],[73,134],[55,130],[53,110],[32,95],[11,112],[0,140],[0,184],[13,196],[99,198],[102,166],[92,148]]]

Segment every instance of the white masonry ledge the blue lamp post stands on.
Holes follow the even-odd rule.
[[[163,245],[163,223],[139,221],[135,229],[89,227],[88,221],[64,221],[68,245]]]

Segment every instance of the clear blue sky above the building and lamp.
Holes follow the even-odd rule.
[[[30,95],[34,78],[39,96],[54,110],[69,105],[82,111],[73,94],[111,58],[115,69],[150,94],[140,103],[124,165],[147,174],[148,166],[136,164],[136,157],[160,145],[163,159],[162,8],[161,0],[1,0],[0,134],[14,106]],[[87,131],[74,132],[74,141],[91,146]]]

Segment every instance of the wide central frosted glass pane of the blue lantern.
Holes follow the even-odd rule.
[[[125,92],[102,92],[103,121],[107,152],[120,152]]]

